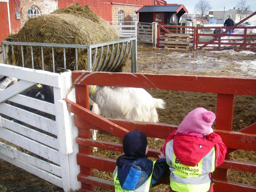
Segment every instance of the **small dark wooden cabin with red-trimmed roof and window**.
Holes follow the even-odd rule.
[[[182,4],[145,5],[138,9],[139,22],[157,22],[162,25],[180,25],[179,21],[183,14],[188,13]]]

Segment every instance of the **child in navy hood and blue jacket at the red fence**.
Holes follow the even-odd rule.
[[[138,188],[143,186],[146,187],[143,191],[151,191],[150,186],[169,172],[164,155],[158,155],[160,159],[154,162],[154,166],[147,159],[147,137],[138,130],[130,131],[124,136],[123,150],[124,155],[117,159],[113,174],[116,192],[122,189],[140,191]]]

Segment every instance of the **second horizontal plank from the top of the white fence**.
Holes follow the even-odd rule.
[[[0,92],[2,89],[0,89]],[[42,101],[39,99],[35,99],[32,97],[27,97],[25,95],[17,94],[14,95],[13,97],[7,99],[8,101],[12,101],[24,106],[28,106],[30,108],[49,113],[52,115],[55,115],[55,109],[54,109],[54,104],[53,103],[48,103],[46,101]]]

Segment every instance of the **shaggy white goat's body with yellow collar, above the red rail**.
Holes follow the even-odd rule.
[[[153,98],[142,88],[89,86],[89,94],[105,118],[156,123],[156,108],[165,108],[162,99]]]

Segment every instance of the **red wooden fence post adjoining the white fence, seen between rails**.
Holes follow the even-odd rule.
[[[76,102],[77,104],[89,109],[89,89],[88,85],[76,85]],[[84,138],[91,138],[90,129],[82,129],[78,127],[78,136]],[[79,152],[91,154],[91,147],[79,145]],[[92,176],[92,168],[80,166],[80,173]],[[82,188],[93,191],[93,185],[82,183]]]

